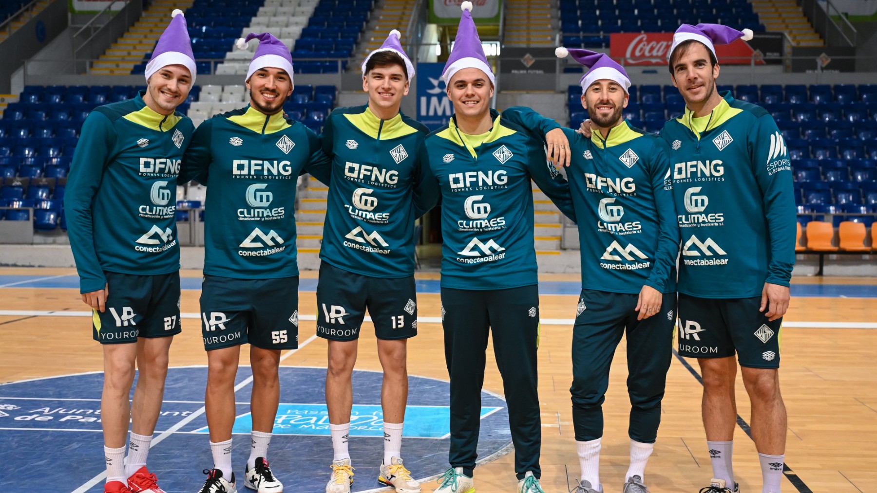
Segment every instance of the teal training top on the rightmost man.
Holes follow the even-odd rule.
[[[765,109],[721,93],[705,130],[694,114],[660,132],[670,144],[681,228],[679,292],[701,298],[760,296],[789,285],[795,264],[792,166]]]

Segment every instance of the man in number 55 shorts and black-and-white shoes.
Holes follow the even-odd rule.
[[[250,103],[201,123],[182,167],[207,185],[202,335],[207,350],[205,403],[213,467],[200,493],[235,493],[232,429],[240,347],[250,345],[253,431],[246,488],[278,493],[267,451],[280,399],[282,349],[298,347],[296,180],[307,171],[327,182],[329,161],[317,135],[283,114],[292,94],[289,48],[259,39],[246,73]],[[320,170],[325,170],[325,174]]]

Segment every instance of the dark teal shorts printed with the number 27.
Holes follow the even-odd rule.
[[[139,276],[103,272],[106,310],[92,311],[92,337],[101,344],[180,334],[180,272]]]

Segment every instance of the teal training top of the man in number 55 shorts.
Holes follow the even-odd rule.
[[[204,273],[297,276],[296,182],[303,171],[327,181],[328,167],[317,135],[282,112],[247,105],[201,123],[182,168],[207,186]]]

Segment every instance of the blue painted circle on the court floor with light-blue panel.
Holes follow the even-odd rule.
[[[323,491],[332,463],[332,440],[325,409],[324,368],[281,367],[281,405],[268,458],[275,475],[290,493]],[[241,366],[232,463],[238,490],[250,452],[251,376]],[[203,395],[207,368],[168,370],[164,404],[153,435],[149,468],[168,493],[197,491],[202,469],[212,467]],[[103,434],[100,398],[103,373],[84,373],[0,384],[0,463],[7,472],[39,470],[26,479],[0,477],[0,491],[103,491]],[[403,457],[416,478],[448,468],[449,384],[410,376],[403,432]],[[481,438],[478,457],[489,461],[509,450],[509,413],[505,400],[481,392]],[[378,468],[383,455],[381,373],[353,373],[353,418],[349,441],[356,474],[353,491],[380,489]],[[93,482],[90,488],[84,488]],[[62,486],[61,486],[62,485]]]

